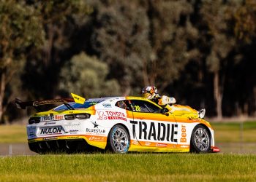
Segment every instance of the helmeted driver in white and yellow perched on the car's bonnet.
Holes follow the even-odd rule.
[[[176,99],[167,97],[165,95],[160,96],[157,92],[157,88],[154,86],[144,87],[142,90],[142,97],[152,100],[159,106],[167,108],[170,113],[175,115],[186,114],[190,119],[198,117],[203,118],[206,113],[205,109],[197,111],[189,106],[173,105],[173,103],[176,103]],[[171,104],[171,106],[169,104]]]

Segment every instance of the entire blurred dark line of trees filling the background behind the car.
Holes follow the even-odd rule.
[[[254,0],[0,0],[0,119],[14,98],[140,95],[256,116]]]

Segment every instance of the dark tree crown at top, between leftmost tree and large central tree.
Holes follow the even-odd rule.
[[[53,57],[53,50],[59,51],[69,47],[69,38],[73,33],[72,25],[81,25],[92,9],[81,0],[36,0],[32,4],[39,12],[46,33],[42,47],[43,62],[46,66],[60,61],[58,55]]]

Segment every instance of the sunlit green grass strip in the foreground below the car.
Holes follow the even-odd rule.
[[[0,181],[255,181],[255,163],[249,154],[1,157]]]

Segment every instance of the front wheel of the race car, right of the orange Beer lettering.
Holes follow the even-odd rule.
[[[190,141],[192,152],[207,153],[211,150],[211,135],[203,125],[197,125],[192,131]]]

